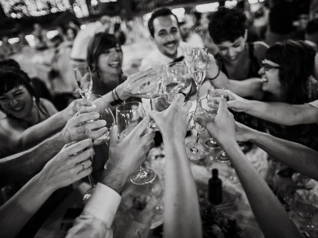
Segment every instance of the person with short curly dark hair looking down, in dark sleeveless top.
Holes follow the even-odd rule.
[[[218,47],[216,60],[207,78],[217,88],[229,89],[241,97],[261,96],[258,70],[268,46],[264,42],[246,43],[246,16],[237,9],[219,8],[210,17],[209,33]]]

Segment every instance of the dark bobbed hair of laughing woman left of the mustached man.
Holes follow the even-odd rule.
[[[87,47],[87,65],[91,72],[98,71],[98,58],[108,49],[114,48],[118,45],[117,39],[113,34],[106,32],[97,33],[89,42]]]

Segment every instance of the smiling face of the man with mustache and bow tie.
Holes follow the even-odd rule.
[[[154,40],[159,51],[170,58],[175,58],[180,41],[180,30],[173,15],[159,16],[154,19]]]

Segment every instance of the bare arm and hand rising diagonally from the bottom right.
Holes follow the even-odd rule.
[[[219,109],[214,121],[200,117],[194,119],[209,131],[230,158],[264,236],[266,238],[301,238],[284,207],[240,150],[235,138],[234,117],[227,110],[226,100],[223,98],[216,98],[216,100],[219,103]]]

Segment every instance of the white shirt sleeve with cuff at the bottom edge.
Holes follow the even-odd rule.
[[[112,238],[111,225],[121,197],[110,187],[97,183],[83,212],[66,238]]]

